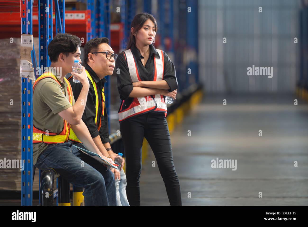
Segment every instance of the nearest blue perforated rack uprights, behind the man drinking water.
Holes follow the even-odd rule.
[[[50,59],[47,53],[47,46],[52,40],[52,0],[38,0],[38,20],[39,20],[39,65],[43,67],[50,66]],[[33,32],[33,4],[34,0],[20,0],[21,13],[21,31],[22,34],[31,34]],[[64,19],[64,0],[55,0],[55,20],[56,33],[65,32]],[[34,70],[36,70],[36,59],[34,47],[31,53]],[[38,76],[36,76],[38,77]],[[33,192],[33,147],[32,147],[32,133],[33,133],[33,96],[32,96],[32,81],[30,79],[22,78],[22,160],[26,160],[25,169],[22,171],[22,205],[32,205]],[[39,170],[41,175],[41,170]],[[58,186],[58,182],[57,182]],[[55,193],[55,196],[57,194]],[[39,203],[41,203],[41,196],[39,196]],[[58,202],[58,198],[57,198]]]

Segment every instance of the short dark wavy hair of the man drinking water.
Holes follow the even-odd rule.
[[[68,56],[69,53],[75,53],[80,46],[81,41],[77,36],[69,33],[58,33],[48,44],[50,61],[58,61],[60,53],[66,56]]]

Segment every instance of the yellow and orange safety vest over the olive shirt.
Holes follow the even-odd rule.
[[[36,81],[34,82],[33,91],[36,87],[36,84],[44,78],[52,78],[61,86],[60,82],[57,80],[57,78],[55,77],[54,74],[44,73],[39,78],[37,78]],[[69,99],[69,102],[72,105],[73,99],[72,99],[71,84],[67,81],[66,78],[63,78],[63,81],[65,83],[67,83],[68,99]],[[48,134],[47,134],[46,131],[42,131],[42,130],[36,128],[33,124],[33,136],[32,136],[33,143],[42,143],[43,142],[43,143],[46,143],[46,144],[54,144],[54,143],[67,142],[69,134],[70,134],[70,128],[71,128],[70,123],[68,123],[65,119],[63,119],[63,129],[60,133],[48,132]]]

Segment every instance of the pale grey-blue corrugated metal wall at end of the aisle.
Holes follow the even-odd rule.
[[[205,91],[294,92],[302,41],[300,4],[300,0],[199,0],[199,73]],[[273,67],[273,77],[248,76],[247,67],[253,65]]]

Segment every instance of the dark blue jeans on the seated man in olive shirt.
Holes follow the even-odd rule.
[[[72,146],[71,141],[49,145],[35,167],[53,168],[76,187],[84,187],[86,206],[116,206],[114,174],[101,163]]]

